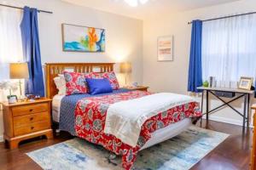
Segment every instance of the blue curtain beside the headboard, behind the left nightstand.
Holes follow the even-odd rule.
[[[29,69],[29,80],[26,81],[26,94],[44,96],[44,77],[38,36],[38,9],[24,8],[20,30],[23,53],[28,62]]]

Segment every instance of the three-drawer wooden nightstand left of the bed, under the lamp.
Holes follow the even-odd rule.
[[[50,122],[51,99],[24,101],[3,105],[3,139],[9,142],[9,148],[18,148],[21,140],[45,135],[53,138]]]

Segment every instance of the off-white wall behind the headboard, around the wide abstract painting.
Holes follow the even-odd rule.
[[[61,0],[0,0],[52,11],[38,14],[42,64],[46,62],[121,62],[132,63],[132,80],[143,80],[143,21],[91,8],[62,3]],[[106,29],[106,53],[62,52],[61,23]],[[116,68],[118,69],[118,68]],[[0,114],[0,136],[3,134]]]

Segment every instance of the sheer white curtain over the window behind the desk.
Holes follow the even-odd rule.
[[[256,14],[203,23],[202,76],[217,87],[236,88],[240,77],[256,77]]]

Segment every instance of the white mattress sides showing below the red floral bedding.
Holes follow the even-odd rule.
[[[63,99],[65,95],[55,95],[52,101],[52,117],[54,122],[60,122],[60,112],[61,112],[61,99]],[[186,118],[181,122],[172,123],[167,127],[160,128],[159,130],[152,133],[151,139],[143,145],[141,150],[144,150],[154,144],[159,144],[167,139],[171,139],[177,136],[179,133],[185,131],[189,126],[191,126],[191,119]]]

